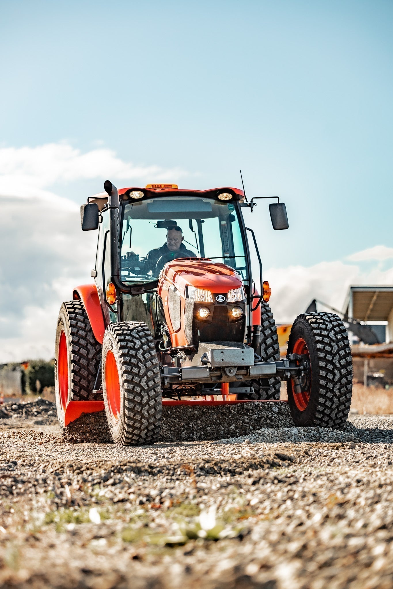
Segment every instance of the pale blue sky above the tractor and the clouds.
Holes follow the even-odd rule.
[[[392,2],[378,0],[0,1],[0,195],[37,203],[46,191],[80,204],[107,176],[119,186],[150,177],[239,186],[241,167],[249,196],[278,194],[287,204],[286,232],[271,229],[267,205],[250,220],[282,292],[285,269],[315,276],[318,264],[333,264],[333,279],[344,264],[342,282],[348,256],[377,246],[388,250],[358,255],[363,266],[351,277],[387,282],[392,21]],[[74,237],[63,221],[64,243],[72,235],[90,252],[90,237]],[[55,264],[41,250],[35,260],[53,293]],[[72,276],[67,263],[71,284],[84,270]],[[278,307],[281,319],[301,312],[311,290],[299,308]],[[341,305],[335,292],[329,300]],[[0,299],[4,325],[6,307]]]

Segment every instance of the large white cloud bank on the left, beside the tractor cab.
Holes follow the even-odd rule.
[[[97,232],[82,233],[77,204],[51,187],[103,174],[165,181],[186,173],[65,142],[0,148],[0,363],[53,356],[61,303],[73,287],[92,282]]]

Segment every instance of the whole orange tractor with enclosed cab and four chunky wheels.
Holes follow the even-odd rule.
[[[299,315],[280,359],[269,284],[242,215],[258,197],[173,184],[118,191],[108,180],[104,188],[81,207],[82,230],[98,229],[95,283],[76,287],[58,317],[61,427],[105,409],[116,444],[152,444],[162,405],[279,401],[282,380],[296,426],[344,425],[352,363],[342,320]],[[273,228],[288,229],[277,200]]]

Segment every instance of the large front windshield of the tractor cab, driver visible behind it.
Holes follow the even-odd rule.
[[[179,195],[125,204],[120,252],[121,280],[127,284],[154,280],[166,262],[180,257],[207,257],[246,279],[235,205],[212,198]]]

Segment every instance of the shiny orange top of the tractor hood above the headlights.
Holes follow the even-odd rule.
[[[167,262],[160,274],[158,292],[164,283],[173,284],[181,294],[186,286],[222,294],[243,286],[242,278],[230,266],[200,258]]]

